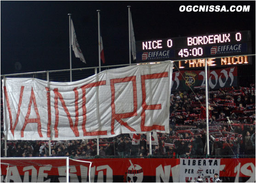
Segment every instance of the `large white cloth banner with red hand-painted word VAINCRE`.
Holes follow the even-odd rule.
[[[108,138],[169,133],[171,61],[104,70],[74,82],[3,80],[8,140]]]

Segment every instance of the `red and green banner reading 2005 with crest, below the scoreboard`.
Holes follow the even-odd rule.
[[[237,67],[209,71],[210,89],[237,86]],[[184,78],[183,78],[183,77]],[[205,86],[205,70],[181,70],[173,72],[171,91],[189,90]]]

